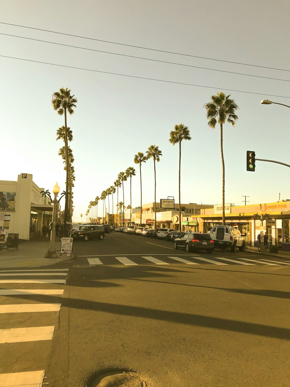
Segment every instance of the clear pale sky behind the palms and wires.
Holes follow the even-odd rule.
[[[181,146],[181,202],[220,204],[220,130],[208,127],[203,106],[212,94],[223,91],[231,94],[239,106],[236,126],[226,124],[223,130],[225,202],[242,205],[242,195],[249,196],[248,204],[276,201],[279,194],[281,199],[290,199],[288,167],[256,161],[256,171],[246,171],[247,150],[255,151],[256,158],[290,164],[290,109],[260,104],[262,99],[270,99],[290,105],[289,14],[288,0],[3,1],[1,22],[124,45],[5,24],[0,24],[2,34],[281,80],[0,35],[0,54],[9,57],[206,86],[0,57],[0,179],[16,180],[19,173],[32,173],[39,187],[51,190],[58,181],[61,191],[65,189],[65,171],[58,156],[63,143],[55,140],[56,130],[64,125],[64,116],[53,110],[51,97],[60,87],[68,87],[78,99],[75,113],[68,116],[68,126],[73,131],[70,147],[75,158],[74,221],[80,221],[79,215],[85,214],[90,200],[101,196],[102,190],[129,166],[136,169],[132,207],[140,205],[140,175],[133,159],[151,144],[159,146],[163,154],[156,166],[157,200],[174,196],[178,202],[179,149],[169,143],[169,133],[179,123],[188,126],[192,137]],[[124,190],[127,205],[129,182],[124,183]],[[142,202],[152,201],[154,167],[150,159],[142,165]]]

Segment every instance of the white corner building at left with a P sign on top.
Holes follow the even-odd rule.
[[[29,173],[20,173],[17,181],[0,180],[0,229],[19,234],[19,239],[29,240],[41,234],[43,213],[52,211],[50,200],[42,197]]]

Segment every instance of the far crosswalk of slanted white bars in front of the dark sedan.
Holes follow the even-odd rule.
[[[133,254],[132,254],[133,255]],[[151,255],[133,255],[133,258],[130,255],[130,258],[126,256],[117,256],[117,255],[104,255],[95,258],[87,258],[87,261],[90,265],[116,265],[122,264],[125,266],[137,266],[137,265],[171,265],[180,262],[185,265],[201,265],[201,264],[212,264],[212,265],[247,265],[247,266],[283,266],[289,265],[290,262],[276,261],[270,259],[247,259],[244,257],[227,258],[227,257],[211,257],[212,259],[200,257],[199,255],[186,255],[186,259],[181,256],[171,256],[164,255],[162,259],[152,257]],[[175,262],[174,262],[175,261]],[[1,280],[0,280],[1,282]]]

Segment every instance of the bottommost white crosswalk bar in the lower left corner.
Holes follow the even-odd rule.
[[[44,371],[0,373],[1,387],[41,387]]]

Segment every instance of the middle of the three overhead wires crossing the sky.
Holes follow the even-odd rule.
[[[92,49],[92,48],[85,48],[85,47],[72,46],[72,45],[65,45],[65,44],[62,44],[62,43],[56,43],[56,42],[51,42],[51,41],[47,41],[47,40],[40,40],[40,39],[26,38],[26,36],[11,35],[11,34],[3,34],[3,33],[0,33],[0,35],[13,36],[14,38],[22,38],[22,39],[34,40],[34,41],[37,41],[37,42],[43,42],[43,43],[50,43],[50,44],[58,45],[58,46],[65,46],[65,47],[72,47],[72,48],[80,48],[81,50],[96,51],[96,52],[102,52],[102,53],[106,53],[106,54],[119,55],[119,56],[121,56],[121,57],[137,58],[137,59],[143,59],[143,60],[150,60],[150,61],[152,61],[152,62],[169,63],[169,64],[171,64],[171,65],[178,65],[178,66],[185,66],[185,67],[194,67],[194,68],[202,68],[203,70],[211,70],[211,71],[225,72],[225,73],[228,73],[228,74],[246,75],[247,77],[256,77],[256,78],[264,78],[264,79],[282,80],[282,81],[284,81],[284,82],[290,82],[290,80],[288,80],[288,79],[271,78],[271,77],[262,77],[261,75],[243,74],[243,73],[237,73],[237,72],[226,71],[226,70],[217,70],[216,68],[208,68],[208,67],[200,67],[200,66],[186,65],[186,64],[184,64],[184,63],[167,62],[167,61],[165,61],[165,60],[157,60],[157,59],[151,59],[151,58],[135,57],[135,56],[133,56],[133,55],[119,54],[119,53],[110,52],[110,51],[94,50],[94,49]]]

